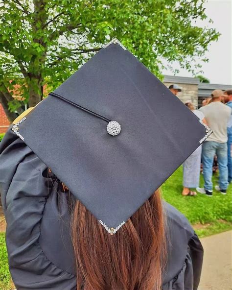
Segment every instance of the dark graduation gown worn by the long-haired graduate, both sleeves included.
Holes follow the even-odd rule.
[[[17,290],[75,290],[67,195],[47,166],[10,129],[0,148],[0,193],[9,268]],[[179,211],[163,203],[167,264],[162,290],[197,290],[203,248]]]

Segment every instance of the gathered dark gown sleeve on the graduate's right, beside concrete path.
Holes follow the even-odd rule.
[[[162,290],[197,290],[203,264],[204,250],[194,234],[188,242],[184,265],[180,272],[162,286]]]

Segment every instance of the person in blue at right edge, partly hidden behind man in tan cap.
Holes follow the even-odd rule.
[[[232,182],[232,90],[224,92],[225,103],[231,108],[231,118],[227,124],[227,147],[228,147],[228,181]]]

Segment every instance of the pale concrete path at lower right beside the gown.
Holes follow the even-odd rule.
[[[232,231],[201,239],[204,263],[198,290],[232,290]]]

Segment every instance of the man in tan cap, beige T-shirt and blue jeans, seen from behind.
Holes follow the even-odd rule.
[[[224,98],[223,91],[214,90],[211,96],[211,102],[200,108],[200,111],[205,115],[209,127],[213,130],[213,133],[203,143],[202,147],[204,188],[197,188],[199,193],[206,194],[207,196],[212,196],[212,165],[214,155],[217,155],[219,167],[219,186],[215,186],[215,190],[222,194],[227,192],[227,123],[231,117],[231,108],[221,102]]]

